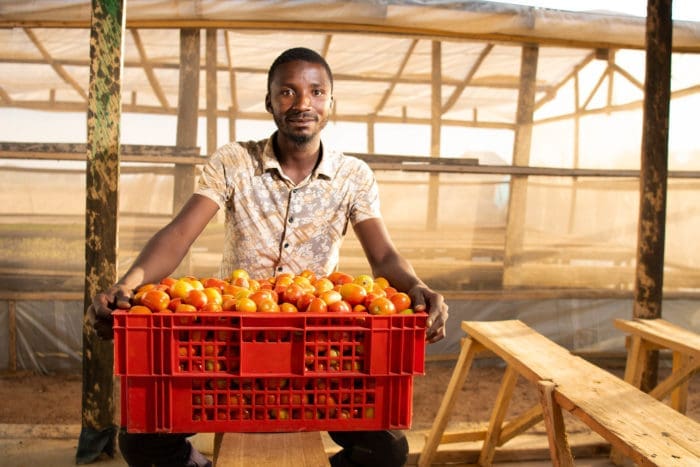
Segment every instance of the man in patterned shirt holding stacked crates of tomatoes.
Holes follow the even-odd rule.
[[[379,212],[377,184],[361,160],[324,147],[321,130],[333,105],[333,75],[306,48],[289,49],[268,73],[265,107],[277,131],[268,140],[229,143],[202,171],[199,186],[177,216],[146,244],[124,277],[93,299],[98,334],[111,334],[111,309],[127,307],[133,290],[171,274],[208,222],[223,209],[226,236],[221,277],[244,269],[252,277],[309,269],[328,275],[351,224],[375,276],[406,291],[428,311],[426,339],[445,336],[443,297],[415,275],[394,248]],[[401,466],[408,443],[400,431],[337,432],[343,449],[333,466]],[[206,466],[186,435],[128,434],[119,445],[130,465]]]

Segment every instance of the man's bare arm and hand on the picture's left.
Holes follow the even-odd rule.
[[[218,209],[211,199],[192,195],[177,216],[151,237],[126,274],[93,297],[88,319],[100,336],[111,337],[112,310],[128,308],[136,287],[159,281],[177,268]]]

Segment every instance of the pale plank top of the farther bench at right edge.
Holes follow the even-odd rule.
[[[700,334],[664,319],[616,319],[615,327],[693,358],[700,359]]]

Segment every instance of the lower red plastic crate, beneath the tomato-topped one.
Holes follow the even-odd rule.
[[[413,377],[133,376],[121,398],[131,433],[404,429]]]

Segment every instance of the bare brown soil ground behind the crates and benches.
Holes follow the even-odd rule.
[[[416,434],[416,436],[429,430],[432,426],[445,388],[452,375],[454,364],[454,360],[428,362],[426,374],[414,378],[411,433]],[[622,376],[623,369],[621,367],[608,369],[618,376]],[[483,425],[488,421],[503,371],[502,367],[493,365],[476,365],[471,369],[467,382],[458,396],[447,431]],[[666,372],[667,370],[662,368],[660,377],[663,377]],[[0,427],[6,428],[6,433],[0,433],[0,452],[5,451],[12,459],[13,453],[21,456],[24,451],[51,449],[46,447],[48,446],[46,443],[60,443],[57,438],[76,436],[76,430],[79,433],[81,423],[81,391],[81,376],[77,374],[40,376],[25,373],[0,376]],[[520,378],[509,407],[508,418],[536,403],[537,397],[536,388]],[[694,420],[700,421],[700,375],[695,375],[690,381],[687,414]],[[571,435],[586,436],[591,434],[590,429],[577,419],[568,416],[568,414],[565,414],[565,417],[567,431]],[[15,432],[20,432],[20,435],[11,433],[13,426],[18,427]],[[59,431],[59,433],[52,433],[52,430]],[[541,423],[528,432],[529,435],[544,439],[546,446],[544,433],[544,425]],[[1,438],[6,439],[2,440]],[[38,440],[38,438],[43,439],[43,441]],[[416,438],[409,436],[409,442],[411,439]],[[44,443],[46,446],[37,447],[36,443]],[[77,438],[70,439],[68,443],[70,445],[60,448],[63,451],[58,451],[58,455],[67,463],[56,465],[74,465],[73,456]],[[206,447],[204,451],[206,452]],[[20,454],[17,454],[18,452]],[[113,461],[108,462],[109,465],[124,465],[123,461],[121,464],[119,463],[119,459],[116,460],[116,464],[111,462]],[[13,465],[19,467],[25,464]],[[49,464],[41,461],[37,464],[36,461],[28,460],[26,465]],[[577,462],[577,465],[580,464]]]

